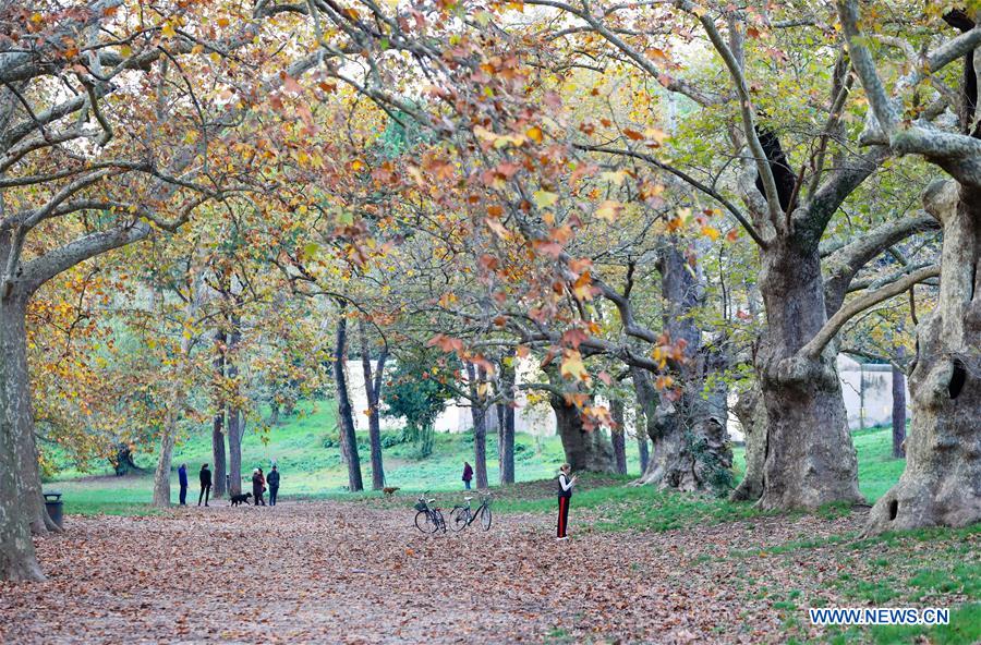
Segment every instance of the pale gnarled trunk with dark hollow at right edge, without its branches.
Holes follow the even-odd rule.
[[[906,470],[867,533],[981,520],[981,188],[946,182],[924,202],[944,229],[940,299],[917,328]]]

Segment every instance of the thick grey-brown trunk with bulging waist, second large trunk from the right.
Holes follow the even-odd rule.
[[[756,353],[766,407],[763,509],[862,500],[834,348],[796,356],[826,320],[816,244],[777,239],[762,252],[767,326]]]

